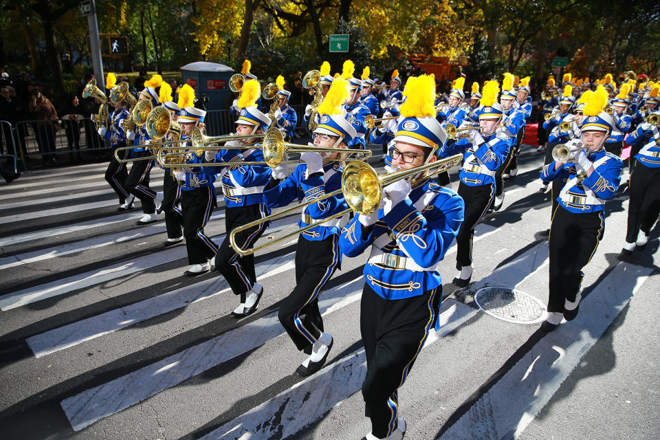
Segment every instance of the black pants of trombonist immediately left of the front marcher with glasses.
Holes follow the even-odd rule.
[[[298,236],[296,287],[280,305],[277,317],[298,350],[309,351],[323,332],[318,294],[340,262],[338,236],[309,241]],[[311,353],[311,351],[310,351]]]

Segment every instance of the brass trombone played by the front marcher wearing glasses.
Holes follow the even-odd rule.
[[[329,192],[318,199],[305,201],[296,206],[293,206],[292,208],[287,208],[276,214],[271,214],[268,217],[264,217],[263,219],[252,221],[251,223],[247,223],[245,225],[239,226],[238,228],[234,228],[234,230],[232,230],[229,236],[230,245],[232,246],[232,248],[234,248],[237,254],[241,256],[246,256],[246,255],[254,254],[254,252],[272,246],[276,243],[281,243],[282,241],[285,241],[291,238],[292,236],[302,234],[303,232],[310,230],[311,228],[315,228],[316,226],[322,223],[326,223],[327,221],[331,221],[343,217],[344,215],[348,214],[351,211],[356,212],[358,214],[371,214],[372,212],[378,209],[378,207],[382,202],[382,197],[383,197],[382,188],[384,186],[387,186],[401,179],[406,179],[408,177],[415,176],[419,173],[425,173],[423,177],[419,177],[419,179],[424,179],[426,177],[429,177],[430,175],[442,173],[443,171],[448,171],[451,168],[454,168],[454,166],[460,164],[462,160],[463,160],[463,155],[457,154],[451,157],[447,157],[446,159],[440,159],[434,162],[427,162],[426,164],[423,164],[421,166],[411,168],[410,170],[397,171],[395,173],[391,173],[388,175],[378,175],[376,171],[371,166],[369,166],[369,164],[366,164],[365,162],[360,162],[360,161],[351,162],[346,166],[346,168],[344,168],[344,172],[342,173],[341,189],[335,190],[333,192]],[[435,169],[433,170],[433,168]],[[428,174],[430,170],[433,171],[432,173]],[[416,179],[415,181],[419,181],[419,179]],[[411,183],[414,184],[415,181]],[[305,226],[305,228],[300,228],[299,230],[295,230],[293,232],[290,232],[289,234],[285,234],[283,236],[277,237],[274,240],[267,241],[266,243],[260,246],[243,249],[241,245],[236,243],[236,234],[238,234],[239,232],[242,232],[246,229],[254,228],[255,226],[259,226],[267,221],[273,221],[275,219],[286,217],[288,214],[291,214],[292,212],[296,212],[300,208],[305,208],[306,206],[309,206],[312,203],[317,203],[318,201],[327,199],[329,197],[334,197],[342,193],[349,205],[349,208],[346,210],[342,210],[341,212],[333,214],[330,217],[311,223],[310,225]]]

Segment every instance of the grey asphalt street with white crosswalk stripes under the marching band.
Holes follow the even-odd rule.
[[[382,168],[380,146],[370,160]],[[539,329],[548,294],[550,194],[543,153],[524,146],[502,210],[476,228],[463,289],[456,249],[441,265],[441,327],[399,390],[406,439],[660,437],[660,227],[621,256],[628,170],[606,203],[606,228],[584,270],[579,316]],[[371,429],[360,386],[362,266],[344,258],[320,296],[334,346],[315,375],[277,320],[294,287],[296,239],[256,256],[259,310],[217,274],[184,277],[185,245],[162,245],[159,221],[118,212],[106,164],[26,173],[0,184],[2,439],[360,439]],[[627,168],[627,167],[626,167]],[[452,171],[452,188],[456,188]],[[161,190],[162,170],[151,173]],[[274,221],[261,242],[296,228]],[[220,203],[206,233],[225,234]]]

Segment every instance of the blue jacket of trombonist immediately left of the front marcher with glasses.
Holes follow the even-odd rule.
[[[342,171],[344,168],[339,164],[326,164],[323,166],[324,173],[307,175],[307,165],[299,164],[294,172],[286,179],[278,181],[276,186],[270,185],[263,192],[263,198],[268,208],[287,206],[294,200],[311,201],[323,197],[328,192],[333,192],[342,187]],[[318,221],[330,217],[338,212],[346,210],[348,205],[344,196],[340,193],[335,197],[319,200],[307,206],[298,220],[298,226],[305,228],[307,225],[318,223]],[[333,234],[339,234],[342,227],[346,225],[347,216],[339,217],[321,223],[310,230],[303,232],[303,237],[309,241],[321,241]]]

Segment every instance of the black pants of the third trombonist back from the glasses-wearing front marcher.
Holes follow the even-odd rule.
[[[234,295],[241,296],[241,303],[245,303],[248,290],[256,283],[254,272],[254,254],[240,256],[231,247],[229,234],[234,228],[266,217],[262,204],[248,206],[234,206],[225,208],[225,230],[227,234],[222,241],[217,255],[215,256],[215,267],[232,288]],[[261,223],[259,227],[250,228],[236,234],[236,244],[241,249],[251,248],[266,230],[267,224]]]

